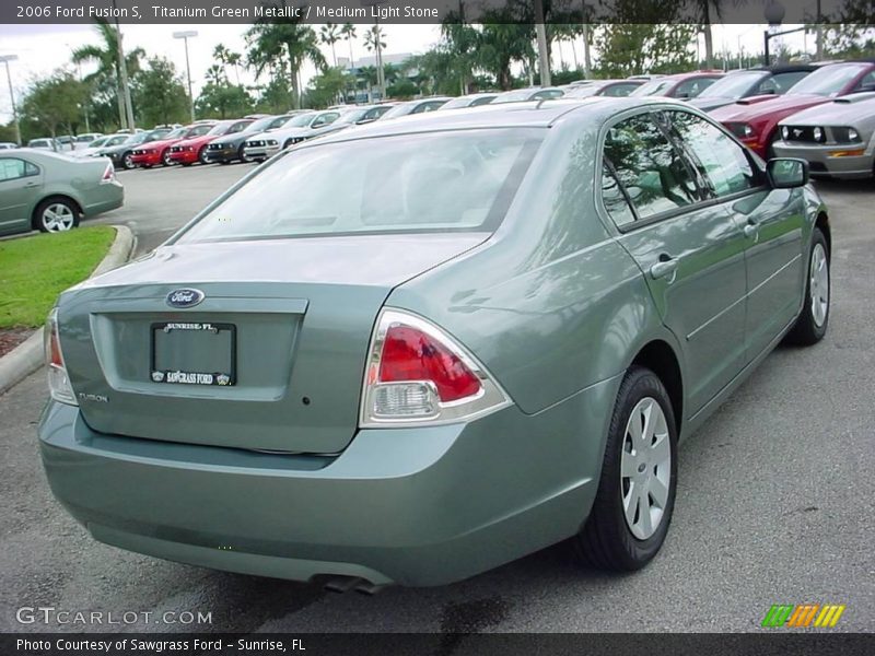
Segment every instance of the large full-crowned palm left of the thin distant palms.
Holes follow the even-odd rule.
[[[285,0],[281,0],[280,4],[285,7]],[[301,107],[299,80],[301,67],[305,61],[311,61],[319,70],[325,70],[327,66],[325,57],[319,50],[316,33],[307,25],[303,25],[302,20],[303,16],[281,21],[266,19],[256,22],[246,32],[246,40],[249,44],[247,57],[249,63],[255,68],[256,78],[276,63],[277,59],[285,58],[291,77],[292,103],[295,109]]]

